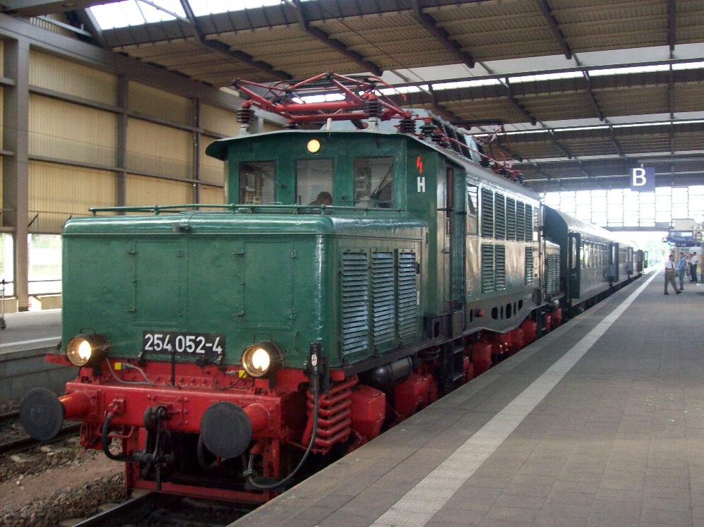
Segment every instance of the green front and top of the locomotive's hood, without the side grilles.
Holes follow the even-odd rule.
[[[330,365],[341,365],[338,255],[419,250],[424,224],[395,216],[73,219],[64,227],[64,342],[95,331],[109,339],[113,356],[134,358],[145,330],[222,333],[226,363],[239,363],[250,344],[273,341],[285,365],[300,367],[310,343],[321,339]],[[184,222],[188,228],[179,229]]]

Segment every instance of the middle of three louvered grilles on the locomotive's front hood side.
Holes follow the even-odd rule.
[[[374,346],[393,342],[396,308],[393,291],[393,253],[371,255],[372,335]]]

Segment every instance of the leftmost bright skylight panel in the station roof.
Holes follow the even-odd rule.
[[[179,0],[150,0],[152,4],[157,4],[167,11],[186,16],[184,8]],[[139,0],[123,0],[113,4],[103,4],[93,6],[90,12],[95,16],[95,20],[100,29],[109,30],[114,28],[126,28],[129,25],[144,25],[146,23],[164,22],[176,20],[176,18],[166,11],[157,9]]]

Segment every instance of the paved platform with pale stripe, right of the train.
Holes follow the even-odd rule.
[[[704,524],[704,286],[648,274],[234,526]]]

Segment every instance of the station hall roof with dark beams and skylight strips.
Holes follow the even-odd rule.
[[[503,123],[536,190],[625,186],[651,162],[660,183],[704,183],[701,0],[78,4],[64,16],[102,46],[218,87],[373,73],[472,133]]]

